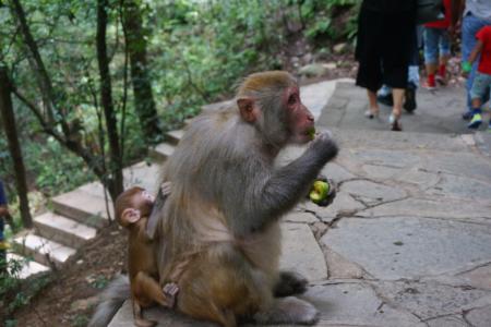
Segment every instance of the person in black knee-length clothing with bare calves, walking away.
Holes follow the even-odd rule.
[[[358,17],[357,85],[367,88],[369,110],[379,114],[376,92],[393,88],[391,130],[402,131],[404,92],[407,85],[411,38],[416,26],[416,0],[363,0]]]

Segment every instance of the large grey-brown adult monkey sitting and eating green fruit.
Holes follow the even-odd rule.
[[[313,125],[296,80],[280,71],[248,76],[235,106],[192,121],[166,166],[172,192],[152,214],[160,284],[178,283],[180,312],[221,326],[318,320],[312,304],[291,296],[307,280],[278,271],[278,220],[338,148],[324,132],[298,159],[273,165],[285,145],[311,141]]]

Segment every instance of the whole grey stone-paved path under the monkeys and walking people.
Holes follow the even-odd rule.
[[[310,279],[302,298],[322,312],[318,326],[490,327],[491,137],[465,129],[462,89],[421,90],[403,133],[387,131],[388,108],[367,120],[351,83],[301,92],[342,147],[323,170],[338,183],[334,203],[301,204],[283,222],[282,267]],[[212,326],[147,315],[158,326]],[[128,302],[110,326],[132,326]]]

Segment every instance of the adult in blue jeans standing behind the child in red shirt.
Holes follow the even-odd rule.
[[[462,17],[462,62],[467,62],[470,52],[476,47],[476,33],[486,25],[491,24],[491,0],[452,0],[452,24],[451,29],[455,31],[455,26]],[[470,100],[470,89],[472,88],[474,78],[478,66],[479,58],[474,62],[470,73],[466,82],[467,89],[467,110],[462,118],[469,120],[472,118],[472,104]],[[481,104],[489,100],[489,93],[484,93]]]

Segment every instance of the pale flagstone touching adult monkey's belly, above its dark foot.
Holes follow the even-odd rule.
[[[282,223],[282,257],[279,267],[303,275],[309,281],[327,278],[324,254],[304,223]]]

